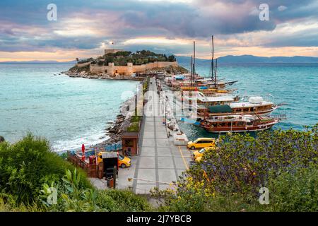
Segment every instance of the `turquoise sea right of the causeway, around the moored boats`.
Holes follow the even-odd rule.
[[[211,76],[210,71],[208,62],[196,65],[201,76]],[[261,95],[276,104],[288,103],[273,112],[287,117],[273,129],[303,130],[318,123],[318,64],[219,64],[217,78],[237,81],[228,88],[241,97]],[[189,140],[214,134],[192,124],[179,127]]]

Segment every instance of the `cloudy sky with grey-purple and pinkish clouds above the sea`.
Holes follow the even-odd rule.
[[[57,6],[56,21],[47,19],[49,4]],[[259,19],[261,4],[269,20]],[[190,56],[194,40],[197,57],[208,58],[211,35],[216,57],[318,57],[318,1],[0,1],[0,61],[69,61],[107,48]]]

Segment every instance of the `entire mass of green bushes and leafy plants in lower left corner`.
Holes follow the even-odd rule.
[[[47,197],[57,191],[57,203]],[[51,196],[52,197],[52,196]],[[0,143],[0,211],[146,211],[146,199],[131,191],[94,189],[81,169],[28,134]]]

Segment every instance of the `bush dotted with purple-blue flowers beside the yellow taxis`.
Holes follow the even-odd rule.
[[[192,169],[196,179],[204,179],[205,169],[213,189],[222,193],[257,194],[267,186],[269,175],[317,165],[317,125],[308,131],[262,131],[254,138],[236,133],[221,137],[218,150],[210,151]]]

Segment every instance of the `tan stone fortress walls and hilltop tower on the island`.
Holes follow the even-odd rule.
[[[123,51],[122,49],[105,49],[105,54],[116,53]],[[108,63],[108,66],[98,66],[96,64],[91,64],[90,62],[83,64],[76,64],[79,68],[84,66],[90,66],[90,73],[96,74],[106,74],[110,77],[131,77],[134,73],[141,73],[143,71],[155,69],[155,68],[165,68],[167,66],[178,66],[177,61],[155,61],[153,63],[133,65],[132,63],[127,63],[126,66],[115,66],[114,63]]]

